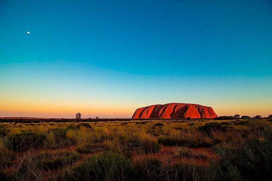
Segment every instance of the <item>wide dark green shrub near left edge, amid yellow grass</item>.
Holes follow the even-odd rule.
[[[31,148],[41,148],[44,145],[45,134],[38,132],[22,132],[7,136],[9,148],[13,150],[27,150]]]

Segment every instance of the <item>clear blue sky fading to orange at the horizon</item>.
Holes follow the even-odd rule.
[[[270,0],[8,0],[0,31],[0,117],[272,114]]]

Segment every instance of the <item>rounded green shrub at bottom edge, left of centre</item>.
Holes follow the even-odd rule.
[[[75,180],[131,180],[136,173],[129,158],[110,151],[94,155],[78,164]]]

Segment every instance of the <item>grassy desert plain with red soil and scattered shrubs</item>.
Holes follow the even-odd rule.
[[[271,124],[0,118],[0,180],[269,180]]]

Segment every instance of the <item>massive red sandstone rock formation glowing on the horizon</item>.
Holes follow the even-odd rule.
[[[156,104],[135,111],[132,118],[215,118],[214,110],[208,106],[187,103]]]

